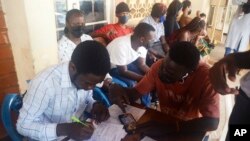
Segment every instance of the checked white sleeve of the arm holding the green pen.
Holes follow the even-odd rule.
[[[23,107],[19,111],[17,131],[35,140],[55,140],[56,123],[41,123],[40,117],[49,105],[53,96],[52,89],[44,83],[33,80],[30,89],[23,99]]]

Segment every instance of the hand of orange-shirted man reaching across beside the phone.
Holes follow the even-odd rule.
[[[118,105],[123,112],[126,112],[124,104],[129,104],[129,98],[123,87],[117,84],[112,84],[109,87],[109,99],[113,104]]]

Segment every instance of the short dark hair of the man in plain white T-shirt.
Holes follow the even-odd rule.
[[[147,23],[139,23],[135,29],[134,34],[136,37],[142,37],[147,35],[150,31],[155,31],[154,27]]]

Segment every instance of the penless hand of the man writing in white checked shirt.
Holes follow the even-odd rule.
[[[92,115],[92,118],[96,120],[97,123],[105,121],[110,117],[108,108],[106,108],[100,102],[96,102],[93,104],[91,115]]]

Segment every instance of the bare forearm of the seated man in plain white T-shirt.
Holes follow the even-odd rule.
[[[127,66],[117,66],[117,69],[119,71],[119,73],[126,78],[135,80],[135,81],[140,81],[142,79],[142,75],[137,74],[135,72],[132,72],[130,70],[128,70]]]

